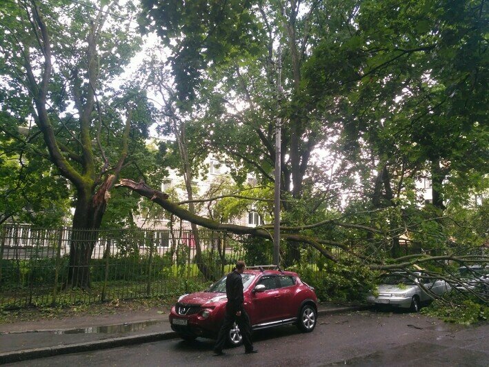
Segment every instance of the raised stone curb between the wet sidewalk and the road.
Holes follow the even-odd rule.
[[[340,307],[326,310],[319,309],[318,316],[333,315],[337,313],[355,312],[367,310],[370,306]],[[28,361],[29,359],[55,357],[57,355],[66,355],[70,353],[83,353],[92,350],[101,350],[108,348],[117,348],[120,346],[130,346],[132,344],[150,343],[152,341],[161,341],[179,337],[174,331],[163,331],[159,333],[147,333],[140,335],[130,335],[127,337],[116,337],[97,341],[86,341],[85,343],[69,344],[66,346],[52,346],[46,348],[32,348],[26,350],[15,350],[12,352],[0,353],[0,364],[7,364],[19,361]]]

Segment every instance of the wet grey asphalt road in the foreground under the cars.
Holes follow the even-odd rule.
[[[210,339],[172,339],[10,366],[489,366],[489,324],[452,325],[411,313],[330,315],[312,333],[285,326],[253,339],[254,355],[241,346],[214,357]]]

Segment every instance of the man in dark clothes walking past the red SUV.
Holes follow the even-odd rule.
[[[245,268],[244,261],[237,261],[236,268],[226,277],[226,296],[228,297],[228,303],[226,304],[226,316],[224,317],[224,322],[219,330],[216,345],[214,346],[214,355],[224,354],[222,350],[234,322],[238,324],[239,330],[241,331],[245,353],[257,353],[257,350],[253,349],[253,343],[251,341],[250,318],[243,306],[244,297],[241,274],[243,274]]]

